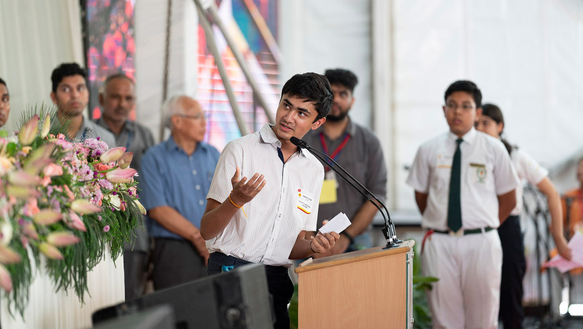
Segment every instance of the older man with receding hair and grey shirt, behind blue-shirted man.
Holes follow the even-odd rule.
[[[108,76],[99,94],[99,104],[103,112],[97,123],[113,133],[116,146],[125,147],[126,151],[134,153],[131,167],[141,174],[142,155],[154,145],[154,137],[145,126],[129,120],[129,112],[136,105],[134,80],[124,73]],[[139,182],[141,177],[136,177],[136,180]],[[128,242],[124,250],[125,300],[141,296],[146,283],[150,243],[145,229],[138,228],[134,233],[136,239]]]

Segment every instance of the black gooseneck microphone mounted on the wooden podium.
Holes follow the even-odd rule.
[[[370,201],[370,203],[374,204],[374,206],[377,207],[378,211],[380,211],[380,213],[382,215],[382,218],[384,218],[384,220],[385,220],[385,227],[382,228],[381,231],[382,231],[382,234],[385,236],[385,239],[387,240],[387,246],[385,246],[383,249],[391,249],[391,248],[397,247],[398,243],[403,242],[403,240],[397,239],[395,224],[391,220],[391,214],[389,214],[389,211],[387,210],[387,206],[385,206],[385,204],[382,203],[382,201],[379,200],[377,196],[375,196],[372,192],[370,192],[370,190],[368,190],[366,187],[364,187],[364,185],[362,185],[359,181],[357,181],[356,178],[354,178],[352,175],[350,175],[349,172],[347,172],[344,168],[342,168],[341,165],[339,165],[336,161],[334,161],[333,158],[329,157],[328,154],[325,154],[325,153],[322,153],[318,150],[315,150],[315,148],[308,145],[308,143],[306,143],[304,140],[298,139],[295,136],[292,136],[290,138],[290,141],[291,141],[291,144],[294,144],[297,147],[305,148],[306,150],[308,150],[311,154],[313,154],[315,157],[317,157],[322,162],[328,162],[328,161],[325,161],[322,158],[322,156],[324,156],[329,161],[331,161],[332,164],[334,164],[334,165],[333,166],[330,165],[329,167],[334,172],[336,172],[336,174],[338,174],[340,177],[342,177],[347,183],[349,183],[350,186],[352,186],[355,190],[357,190],[360,194],[362,194],[368,201]],[[343,172],[343,174],[335,167],[338,167]],[[355,182],[357,185],[359,185],[361,189],[366,191],[366,193],[364,193],[363,190],[361,190],[356,185],[354,185],[353,182],[350,182],[350,180],[347,178],[347,176],[350,179],[352,179],[353,182]],[[381,204],[381,206],[384,208],[387,215],[385,215],[385,213],[378,206],[378,204],[374,203],[374,201],[371,200],[369,196],[373,197],[373,199],[375,199],[379,204]]]

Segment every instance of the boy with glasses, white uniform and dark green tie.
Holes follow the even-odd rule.
[[[449,132],[424,143],[407,183],[427,230],[423,272],[434,328],[496,328],[502,248],[496,228],[516,206],[518,177],[500,140],[477,132],[482,93],[470,81],[445,91]]]

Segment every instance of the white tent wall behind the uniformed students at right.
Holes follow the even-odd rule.
[[[505,134],[545,166],[583,145],[583,2],[393,2],[395,208],[419,144],[447,131],[448,84],[470,79],[500,105]]]

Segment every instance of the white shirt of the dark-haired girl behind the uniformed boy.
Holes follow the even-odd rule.
[[[520,148],[513,148],[510,158],[512,158],[512,164],[514,165],[514,169],[516,169],[518,178],[521,179],[521,183],[516,188],[516,207],[512,209],[510,215],[519,216],[522,214],[523,206],[522,194],[524,193],[524,187],[522,181],[526,180],[531,185],[536,186],[549,175],[549,171],[540,167],[538,162]]]

